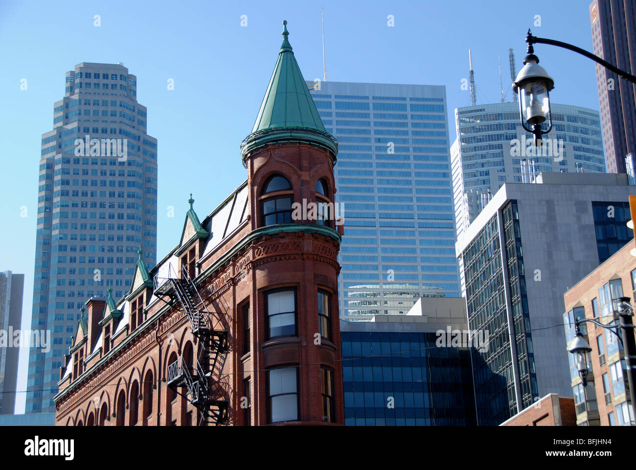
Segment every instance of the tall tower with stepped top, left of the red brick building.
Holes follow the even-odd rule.
[[[29,353],[26,412],[55,411],[60,366],[90,297],[120,299],[142,251],[156,263],[157,141],[123,64],[83,62],[66,73],[42,134],[32,329],[48,352]],[[141,248],[141,250],[140,250]]]

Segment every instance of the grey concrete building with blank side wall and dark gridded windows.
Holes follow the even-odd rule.
[[[633,238],[633,190],[626,174],[541,173],[504,184],[459,236],[469,328],[490,335],[473,354],[479,424],[571,394],[563,292]]]

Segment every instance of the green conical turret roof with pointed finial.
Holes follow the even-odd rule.
[[[324,129],[287,39],[288,35],[287,22],[284,21],[278,61],[252,133],[241,145],[241,153],[245,159],[247,153],[255,148],[274,141],[311,141],[328,148],[335,159],[338,143]]]

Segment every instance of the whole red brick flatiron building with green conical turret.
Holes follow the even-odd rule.
[[[86,303],[57,425],[344,423],[337,142],[287,34],[241,146],[247,181],[201,222],[190,199],[179,244],[150,272],[140,256],[118,303]]]

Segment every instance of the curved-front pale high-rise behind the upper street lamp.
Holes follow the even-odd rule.
[[[450,158],[458,235],[506,182],[521,183],[548,171],[605,173],[598,111],[551,104],[551,112],[552,130],[544,137],[550,142],[545,152],[534,154],[534,146],[527,147],[533,138],[520,124],[518,103],[455,109],[457,139]],[[562,141],[563,155],[551,146],[552,139]]]

